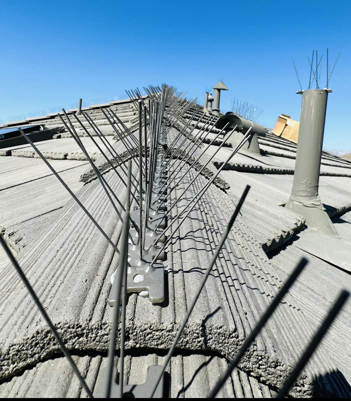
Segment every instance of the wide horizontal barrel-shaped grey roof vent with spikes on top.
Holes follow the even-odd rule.
[[[246,150],[248,152],[254,154],[261,154],[260,146],[258,144],[257,135],[266,136],[266,130],[260,125],[255,123],[254,121],[250,121],[246,118],[239,117],[231,112],[222,115],[217,121],[216,128],[221,130],[227,123],[229,125],[226,127],[226,131],[232,130],[235,126],[237,129],[229,138],[229,142],[233,147],[237,146],[237,144],[242,140],[243,134],[242,132],[246,132],[250,127],[252,127],[253,135],[249,138],[247,142],[241,148],[242,150]]]

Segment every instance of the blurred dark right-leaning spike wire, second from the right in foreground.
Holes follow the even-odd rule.
[[[295,280],[297,277],[300,275],[302,270],[307,264],[307,259],[302,258],[301,261],[298,263],[298,265],[295,267],[294,271],[282,287],[282,289],[276,294],[276,296],[273,298],[272,303],[268,308],[266,309],[266,312],[262,315],[256,326],[253,328],[252,332],[249,334],[249,336],[246,338],[246,340],[243,342],[242,346],[240,347],[239,351],[235,355],[235,358],[231,361],[231,363],[228,365],[224,375],[219,379],[219,381],[216,383],[214,389],[211,391],[210,395],[207,398],[215,398],[215,396],[218,394],[218,391],[221,389],[223,384],[227,381],[228,377],[231,375],[231,372],[233,369],[237,366],[237,364],[240,362],[241,358],[245,354],[245,352],[248,350],[252,342],[255,340],[256,336],[258,333],[262,330],[263,326],[266,324],[267,320],[272,316],[274,310],[276,307],[280,304],[282,299],[284,298],[284,295],[288,292],[289,288],[294,284]]]

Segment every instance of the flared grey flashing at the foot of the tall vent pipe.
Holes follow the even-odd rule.
[[[285,207],[303,216],[308,228],[314,228],[330,237],[340,238],[319,198],[315,198],[314,205],[310,199],[308,199],[308,203],[301,203],[290,198]]]

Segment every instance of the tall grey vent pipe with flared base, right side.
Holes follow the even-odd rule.
[[[318,194],[328,92],[331,90],[302,92],[294,181],[285,207],[304,216],[308,228],[339,237]]]

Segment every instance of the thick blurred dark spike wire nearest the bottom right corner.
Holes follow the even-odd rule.
[[[314,350],[317,348],[317,346],[321,342],[322,338],[325,336],[328,329],[333,324],[335,318],[339,314],[341,308],[344,306],[344,304],[347,301],[347,299],[349,298],[349,296],[350,296],[350,293],[348,291],[346,291],[346,290],[341,291],[339,297],[334,302],[334,305],[329,310],[329,312],[327,313],[327,316],[323,320],[323,323],[321,324],[318,331],[316,332],[316,334],[314,334],[312,340],[308,344],[305,352],[302,354],[300,360],[298,361],[298,363],[296,364],[296,366],[290,373],[288,379],[286,379],[286,381],[284,382],[283,387],[280,389],[280,391],[276,395],[276,398],[284,398],[285,395],[288,393],[288,391],[290,390],[290,388],[292,387],[292,385],[295,383],[296,379],[302,372],[302,369],[304,369],[304,366],[306,365],[306,363],[312,356]]]

